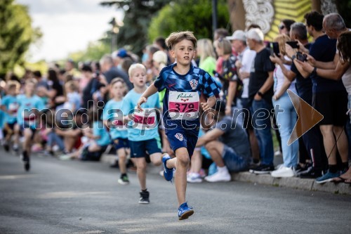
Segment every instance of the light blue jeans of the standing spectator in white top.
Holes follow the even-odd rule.
[[[273,100],[274,108],[279,105],[279,109],[284,112],[276,113],[277,125],[280,137],[282,138],[282,151],[285,167],[296,167],[298,164],[298,141],[288,145],[289,138],[296,124],[297,114],[289,95],[285,92],[278,100]]]

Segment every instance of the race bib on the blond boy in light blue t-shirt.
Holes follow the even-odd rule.
[[[154,108],[144,108],[143,112],[133,113],[133,129],[152,130],[156,127],[156,110]]]

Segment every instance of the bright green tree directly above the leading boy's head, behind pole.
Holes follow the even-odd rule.
[[[227,28],[229,22],[227,1],[218,1],[218,27]],[[167,37],[171,32],[190,30],[198,38],[212,38],[212,5],[208,0],[174,1],[152,18],[148,35]]]

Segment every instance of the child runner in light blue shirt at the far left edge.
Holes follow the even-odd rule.
[[[17,110],[18,110],[18,101],[17,94],[20,91],[20,83],[15,81],[8,82],[7,85],[7,95],[1,100],[1,110],[4,110],[5,122],[4,130],[6,131],[4,148],[6,151],[10,149],[11,138],[14,135],[15,141],[13,144],[13,150],[18,151],[18,142],[19,142],[19,129],[15,128],[17,124]]]

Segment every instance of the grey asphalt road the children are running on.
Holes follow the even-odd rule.
[[[175,188],[151,169],[150,204],[107,164],[19,157],[0,150],[0,233],[351,233],[351,196],[260,186],[190,184],[194,215],[178,221]]]

